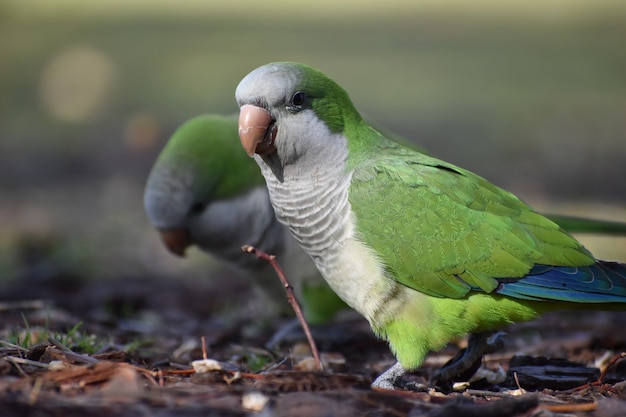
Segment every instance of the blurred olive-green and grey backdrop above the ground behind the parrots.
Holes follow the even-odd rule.
[[[0,1],[0,272],[206,274],[142,189],[184,120],[301,61],[378,126],[545,212],[626,221],[626,2]],[[445,5],[444,5],[445,3]],[[626,261],[626,240],[583,236]]]

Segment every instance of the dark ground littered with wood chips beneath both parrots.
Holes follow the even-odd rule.
[[[589,384],[626,350],[624,313],[550,314],[505,329],[505,347],[485,359],[507,372],[504,382],[377,392],[369,383],[393,358],[366,323],[348,315],[314,328],[325,364],[316,372],[300,332],[264,346],[291,319],[264,317],[254,294],[222,274],[220,291],[35,273],[4,287],[0,415],[626,415],[626,364]],[[431,354],[411,379],[426,384],[464,342]],[[203,356],[220,370],[195,372],[190,363]]]

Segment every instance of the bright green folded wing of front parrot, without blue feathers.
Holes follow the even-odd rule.
[[[460,298],[535,264],[594,262],[554,222],[469,171],[384,138],[369,156],[353,165],[357,229],[404,285]]]

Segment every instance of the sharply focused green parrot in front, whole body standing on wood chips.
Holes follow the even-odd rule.
[[[374,387],[400,386],[468,333],[465,357],[435,383],[467,371],[507,324],[626,310],[625,264],[596,260],[513,194],[379,133],[320,71],[264,65],[235,96],[278,220],[397,359]]]

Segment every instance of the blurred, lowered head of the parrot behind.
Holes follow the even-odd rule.
[[[184,256],[209,239],[205,215],[216,201],[234,198],[263,178],[241,151],[235,116],[202,115],[181,125],[155,162],[144,192],[144,208],[167,249]]]

